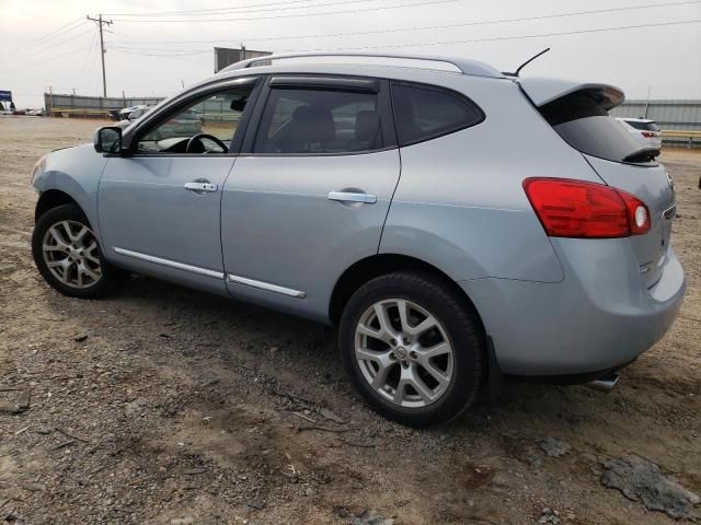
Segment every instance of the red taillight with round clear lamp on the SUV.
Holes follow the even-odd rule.
[[[621,189],[566,178],[527,178],[524,189],[551,237],[611,238],[650,231],[645,203]]]

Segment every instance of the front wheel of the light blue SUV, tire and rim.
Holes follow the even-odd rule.
[[[120,277],[119,270],[104,259],[90,222],[72,203],[51,208],[38,218],[32,234],[32,255],[44,280],[71,298],[105,296]]]

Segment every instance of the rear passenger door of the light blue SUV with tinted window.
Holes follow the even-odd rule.
[[[222,195],[233,296],[326,318],[341,273],[377,253],[399,180],[389,101],[377,79],[268,79]]]

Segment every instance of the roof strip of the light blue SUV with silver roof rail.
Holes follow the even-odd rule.
[[[436,67],[430,67],[428,62],[439,62],[444,65],[452,66],[456,69],[456,72],[462,74],[470,74],[474,77],[490,77],[495,79],[504,78],[504,73],[494,69],[492,66],[480,62],[478,60],[470,60],[467,58],[452,58],[452,57],[441,57],[441,56],[422,56],[422,55],[403,55],[403,54],[393,54],[393,52],[290,52],[290,54],[279,54],[279,55],[266,55],[263,57],[255,57],[249,60],[242,60],[240,62],[235,62],[221,71],[220,73],[237,71],[241,69],[246,69],[251,67],[255,67],[256,65],[261,66],[271,66],[274,60],[287,60],[287,59],[297,59],[297,58],[363,58],[363,59],[390,59],[395,60],[392,66],[397,67],[409,67],[409,68],[420,68],[420,69],[439,69]],[[405,62],[401,62],[402,60],[414,60],[417,62],[427,62],[422,63],[421,66],[417,63],[406,65]],[[347,62],[344,62],[347,63]],[[363,62],[367,63],[367,62]],[[377,65],[377,63],[376,63]],[[382,63],[380,63],[382,65]],[[423,68],[422,68],[423,66]]]

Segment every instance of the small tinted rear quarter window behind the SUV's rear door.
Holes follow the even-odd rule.
[[[460,93],[425,84],[392,83],[400,145],[452,133],[484,120],[484,113]]]

